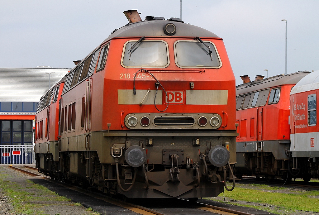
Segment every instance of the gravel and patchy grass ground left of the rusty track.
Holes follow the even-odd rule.
[[[34,184],[26,175],[0,166],[0,214],[87,215],[95,214],[80,204]],[[34,178],[34,177],[33,177]]]

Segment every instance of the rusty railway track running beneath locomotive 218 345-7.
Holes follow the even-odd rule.
[[[148,199],[146,201],[146,203],[144,202],[144,204],[136,203],[136,202],[135,203],[124,202],[124,201],[122,201],[120,199],[111,198],[109,196],[102,195],[102,194],[97,193],[97,192],[88,191],[86,189],[82,189],[82,188],[79,188],[77,186],[68,185],[68,184],[65,184],[63,182],[57,182],[57,181],[51,179],[48,176],[45,176],[45,175],[40,174],[40,173],[35,173],[34,171],[38,171],[38,169],[34,168],[34,167],[29,167],[29,166],[24,166],[22,168],[13,167],[13,166],[9,166],[9,167],[14,169],[14,170],[17,170],[17,171],[20,171],[20,172],[23,172],[25,174],[29,174],[29,175],[32,175],[32,176],[45,177],[46,181],[48,181],[48,182],[52,182],[52,183],[54,183],[56,185],[63,186],[65,188],[68,188],[68,189],[80,192],[82,194],[91,196],[93,198],[97,198],[97,199],[103,200],[103,201],[105,201],[107,203],[110,203],[110,204],[113,204],[113,205],[128,209],[130,211],[134,211],[134,212],[136,212],[138,214],[147,214],[147,215],[151,215],[151,214],[157,214],[157,215],[185,214],[185,212],[181,212],[181,211],[188,211],[188,212],[186,212],[186,214],[194,213],[194,212],[196,214],[221,214],[221,215],[233,215],[233,214],[237,214],[237,215],[254,215],[254,214],[256,214],[256,213],[238,211],[238,210],[234,210],[234,209],[230,209],[230,208],[224,208],[224,207],[219,207],[219,206],[205,204],[205,203],[200,203],[200,202],[191,203],[191,202],[189,202],[188,200],[185,200],[185,199],[174,199],[173,201],[171,199],[169,199],[169,200],[168,199],[162,199],[162,200],[159,200],[159,201],[158,200],[152,201],[152,200]],[[29,170],[26,170],[25,168],[28,168]],[[31,171],[31,170],[33,170],[33,171]],[[82,202],[81,202],[81,204],[84,205],[84,206],[86,205],[85,203],[82,203]],[[151,206],[151,207],[145,207],[145,204],[147,204],[148,206]],[[167,206],[168,206],[169,209],[171,207],[170,204],[176,204],[176,205],[175,205],[175,207],[172,207],[171,211],[167,211]],[[158,205],[160,205],[160,206],[158,206]],[[166,207],[162,208],[161,205],[166,205]],[[92,207],[92,208],[94,210],[94,207]],[[191,212],[191,210],[197,210],[197,211]],[[258,213],[258,214],[262,214],[262,213]],[[269,214],[269,213],[267,212],[267,214]]]

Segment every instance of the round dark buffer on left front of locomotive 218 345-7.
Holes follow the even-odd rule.
[[[125,160],[131,167],[140,167],[145,163],[146,152],[141,146],[132,145],[125,152]]]

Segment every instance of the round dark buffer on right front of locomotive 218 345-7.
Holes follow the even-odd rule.
[[[208,159],[215,167],[225,166],[229,157],[229,151],[222,145],[215,145],[208,153]]]

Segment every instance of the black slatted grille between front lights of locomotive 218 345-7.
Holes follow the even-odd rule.
[[[192,127],[195,122],[193,116],[156,116],[153,119],[156,127]]]

